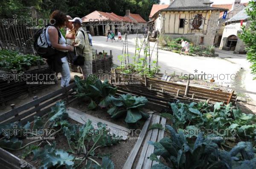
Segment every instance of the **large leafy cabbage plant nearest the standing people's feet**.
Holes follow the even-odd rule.
[[[117,87],[113,88],[108,80],[101,82],[95,76],[89,76],[86,80],[82,80],[79,76],[75,76],[76,82],[76,97],[90,99],[88,105],[89,110],[93,110],[99,105],[100,107],[108,107],[110,104],[110,97],[116,94]]]

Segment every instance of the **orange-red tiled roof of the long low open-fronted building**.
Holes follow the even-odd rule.
[[[137,23],[147,23],[139,14],[130,14],[130,16],[137,21]],[[90,22],[93,20],[112,20],[112,21],[118,21],[118,22],[132,22],[132,19],[129,17],[121,17],[117,14],[114,14],[113,12],[102,12],[102,11],[93,11],[90,14],[87,14],[86,16],[82,17],[81,20],[83,22]]]

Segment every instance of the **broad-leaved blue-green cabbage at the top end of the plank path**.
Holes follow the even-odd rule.
[[[119,98],[111,96],[111,107],[108,114],[111,118],[120,118],[126,115],[126,123],[136,123],[141,118],[147,119],[149,115],[141,109],[147,104],[145,97],[131,96],[130,94],[120,95]]]

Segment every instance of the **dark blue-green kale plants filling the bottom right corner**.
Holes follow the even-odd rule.
[[[218,149],[221,140],[215,140],[215,135],[208,135],[206,139],[200,133],[196,141],[189,146],[182,131],[178,133],[169,125],[166,126],[170,137],[164,137],[159,142],[148,143],[154,145],[154,153],[150,159],[160,162],[151,169],[254,169],[256,154],[250,142],[239,142],[229,152]],[[157,158],[165,159],[165,164]],[[166,166],[166,163],[168,166]]]

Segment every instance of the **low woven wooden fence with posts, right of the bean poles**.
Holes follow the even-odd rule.
[[[134,75],[129,75],[129,77],[134,78]],[[146,75],[144,77],[139,76],[134,78],[138,80],[125,80],[124,74],[116,73],[115,70],[110,79],[112,83],[125,89],[127,92],[131,91],[131,93],[142,96],[149,94],[150,97],[162,97],[162,100],[167,99],[173,101],[179,99],[183,101],[208,101],[212,104],[215,102],[224,102],[224,104],[232,102],[232,104],[236,104],[237,96],[234,94],[234,90],[231,93],[228,93],[191,86],[189,82],[186,85],[178,84],[176,82],[165,82],[154,78],[148,78]],[[126,82],[127,84],[120,84],[122,82]],[[137,84],[138,82],[140,83]]]

